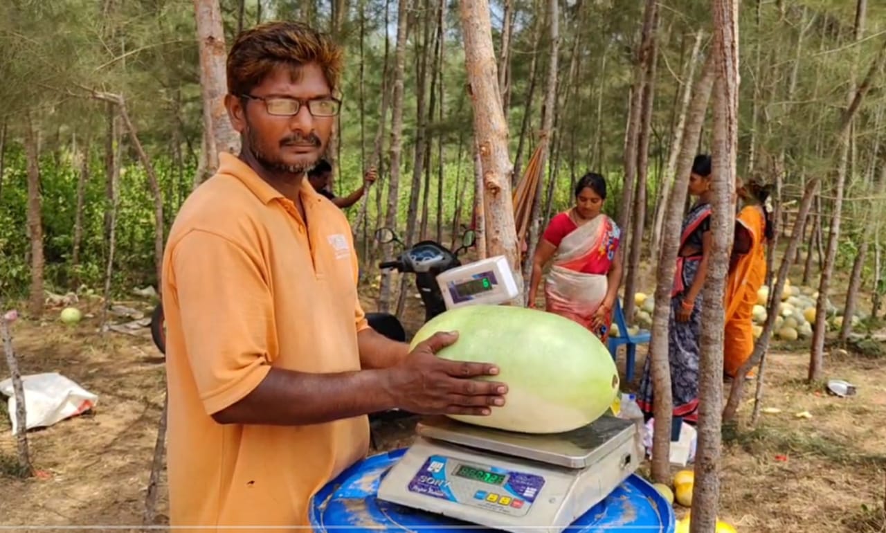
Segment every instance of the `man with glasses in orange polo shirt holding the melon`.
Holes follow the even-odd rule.
[[[338,115],[341,52],[294,22],[239,35],[229,118],[239,157],[188,197],[167,240],[171,525],[307,527],[311,498],[369,449],[367,413],[488,414],[504,404],[486,364],[408,353],[367,326],[344,214],[305,173]]]

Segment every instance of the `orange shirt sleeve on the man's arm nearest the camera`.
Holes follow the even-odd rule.
[[[260,259],[223,236],[191,231],[171,263],[188,364],[206,413],[217,413],[270,371],[273,297]]]

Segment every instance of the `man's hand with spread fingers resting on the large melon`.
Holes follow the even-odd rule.
[[[437,333],[418,344],[396,367],[387,370],[385,389],[394,404],[418,414],[491,413],[489,406],[503,406],[508,387],[501,382],[471,379],[497,375],[498,367],[441,359],[435,353],[455,343],[455,333]]]

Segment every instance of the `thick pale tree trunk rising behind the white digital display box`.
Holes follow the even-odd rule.
[[[516,301],[522,302],[523,275],[520,273],[514,205],[510,194],[512,166],[508,155],[508,123],[501,111],[489,3],[486,0],[463,0],[459,3],[459,12],[468,92],[474,107],[474,131],[483,169],[486,254],[503,255],[508,259],[517,282]]]

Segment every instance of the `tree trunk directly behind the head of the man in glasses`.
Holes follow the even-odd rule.
[[[225,72],[227,50],[221,7],[218,0],[194,0],[197,18],[198,48],[200,50],[200,89],[203,93],[203,127],[211,132],[207,143],[207,173],[212,175],[218,168],[218,154],[227,151],[240,152],[240,135],[228,119],[224,97],[228,92]]]

